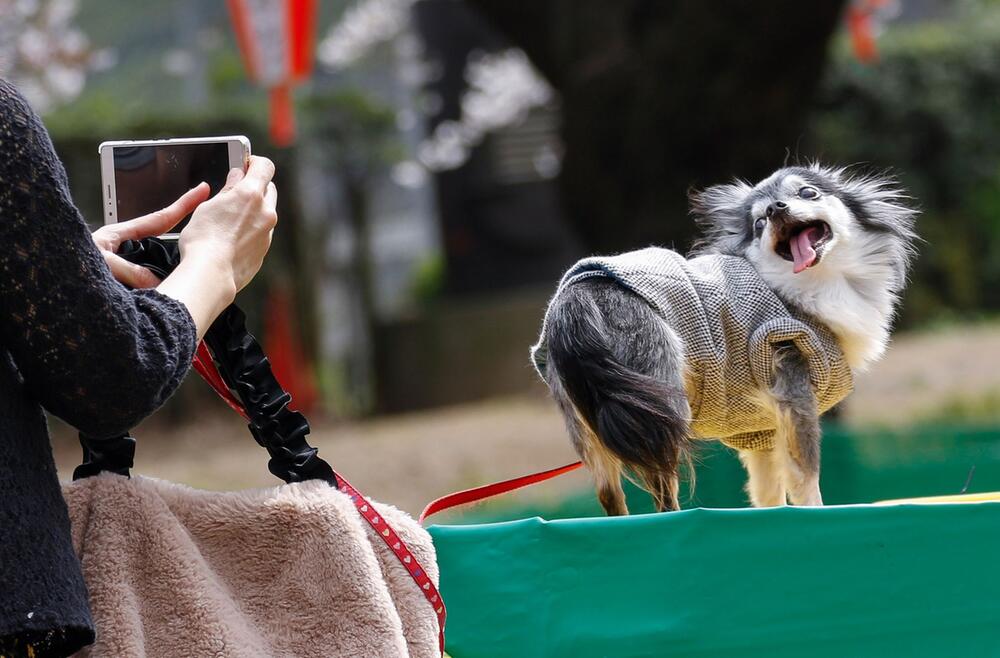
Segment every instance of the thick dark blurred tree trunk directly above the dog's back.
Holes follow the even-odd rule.
[[[845,0],[466,0],[561,95],[567,219],[590,250],[686,248],[685,192],[797,150]]]

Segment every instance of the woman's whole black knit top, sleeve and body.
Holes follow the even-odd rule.
[[[94,638],[42,409],[123,432],[170,396],[194,348],[183,304],[112,278],[45,128],[0,80],[0,656]]]

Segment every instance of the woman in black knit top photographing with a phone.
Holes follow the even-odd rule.
[[[260,268],[277,220],[273,174],[252,158],[211,200],[202,184],[91,236],[44,127],[0,80],[0,656],[67,656],[94,639],[42,409],[114,436],[171,395]],[[114,254],[192,210],[162,282]]]

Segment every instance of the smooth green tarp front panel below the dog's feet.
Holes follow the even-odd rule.
[[[1000,504],[432,526],[453,658],[1000,655]]]

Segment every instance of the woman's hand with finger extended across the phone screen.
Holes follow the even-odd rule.
[[[111,268],[111,274],[116,279],[132,288],[155,288],[160,279],[142,265],[130,263],[117,254],[118,247],[126,240],[141,240],[143,238],[163,235],[194,212],[208,198],[207,183],[200,183],[184,193],[181,198],[163,210],[136,217],[126,222],[108,224],[93,232],[94,244],[101,250],[104,262]]]

